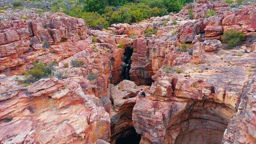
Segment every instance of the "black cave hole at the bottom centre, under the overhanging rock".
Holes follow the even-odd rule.
[[[140,144],[140,139],[140,134],[136,132],[134,127],[130,127],[118,136],[116,144]]]

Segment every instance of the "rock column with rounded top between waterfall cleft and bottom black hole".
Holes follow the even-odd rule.
[[[110,112],[111,140],[124,138],[135,133],[132,122],[132,109],[138,99],[140,89],[148,92],[149,86],[136,86],[135,82],[123,80],[116,86],[109,85],[109,97],[113,102]]]

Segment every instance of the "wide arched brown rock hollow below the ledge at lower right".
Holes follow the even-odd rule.
[[[171,124],[165,142],[221,144],[228,122],[235,114],[236,111],[224,104],[195,102],[190,109],[177,117],[181,120],[178,124]]]

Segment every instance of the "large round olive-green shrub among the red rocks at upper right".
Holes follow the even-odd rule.
[[[230,29],[227,32],[224,32],[221,38],[223,42],[228,43],[229,48],[239,46],[244,39],[244,33],[240,31],[235,31],[234,29]]]

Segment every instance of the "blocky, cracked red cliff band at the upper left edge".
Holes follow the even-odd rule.
[[[87,38],[84,20],[70,16],[45,14],[44,18],[8,20],[0,22],[0,70],[15,68],[35,60],[40,55],[49,55],[50,44],[60,41],[77,41]],[[71,41],[67,42],[68,44]],[[44,47],[44,48],[43,48]],[[34,49],[32,52],[29,50]],[[78,52],[70,49],[69,56]],[[59,59],[65,56],[59,56]]]

